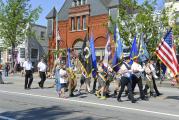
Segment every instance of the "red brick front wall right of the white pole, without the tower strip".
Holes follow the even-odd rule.
[[[80,20],[82,29],[82,17]],[[77,23],[76,21],[75,23]],[[96,47],[104,47],[106,44],[106,41],[104,39],[106,39],[107,22],[107,15],[100,15],[95,17],[87,16],[87,26],[89,26],[89,35],[91,34],[91,31],[93,31],[94,39],[96,41]],[[68,21],[59,21],[58,24],[60,30],[60,37],[63,41],[63,44],[60,46],[61,48],[72,48],[75,41],[77,39],[83,40],[88,32],[88,30],[71,31],[71,19],[69,19]],[[76,25],[75,28],[77,28]]]

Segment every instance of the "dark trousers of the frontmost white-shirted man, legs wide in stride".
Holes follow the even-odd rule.
[[[134,100],[134,96],[132,94],[132,81],[129,78],[127,78],[127,77],[121,77],[121,89],[119,91],[117,99],[121,98],[121,95],[122,95],[122,92],[125,89],[125,86],[127,86],[127,88],[128,88],[129,98],[131,99],[131,101],[133,101]]]

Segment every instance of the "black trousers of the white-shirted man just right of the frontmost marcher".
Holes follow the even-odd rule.
[[[137,76],[132,75],[131,79],[132,79],[132,91],[134,92],[135,86],[136,86],[136,84],[138,84],[139,91],[140,91],[140,98],[145,99],[145,94],[144,94],[143,84],[142,84],[142,78],[141,77],[138,78]]]

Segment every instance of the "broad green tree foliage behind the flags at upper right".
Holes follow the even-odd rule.
[[[137,0],[121,0],[118,7],[118,17],[110,21],[109,27],[113,33],[114,25],[117,23],[121,38],[127,46],[131,46],[135,35],[144,34],[144,42],[147,44],[149,53],[153,54],[157,44],[170,28],[173,28],[174,36],[179,35],[179,27],[176,24],[169,25],[169,8],[160,10],[156,14],[156,0],[144,0],[138,4]],[[174,15],[174,18],[178,16]]]

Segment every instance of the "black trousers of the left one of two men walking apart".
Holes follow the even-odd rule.
[[[31,70],[26,70],[25,72],[26,73],[25,73],[25,86],[24,86],[24,88],[27,89],[27,88],[31,87],[31,84],[33,82],[33,75],[32,75]]]

